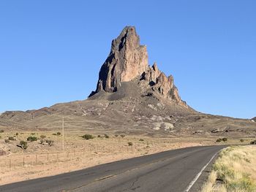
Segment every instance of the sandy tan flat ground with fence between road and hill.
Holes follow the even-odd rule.
[[[18,131],[1,133],[0,139],[0,185],[22,180],[46,177],[89,166],[105,164],[125,158],[148,155],[165,150],[199,145],[223,145],[217,143],[217,137],[146,137],[143,135],[104,134],[92,131],[67,131],[64,134],[64,150],[62,150],[61,135],[57,131]],[[83,134],[92,134],[94,139],[83,139]],[[42,145],[40,140],[28,142],[28,148],[22,150],[17,145],[27,137],[53,140],[53,146]],[[99,137],[99,136],[100,137]],[[6,143],[5,139],[14,137]],[[249,139],[244,139],[244,144]],[[240,138],[228,138],[225,144],[241,144]]]

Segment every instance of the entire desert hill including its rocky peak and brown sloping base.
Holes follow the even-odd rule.
[[[70,130],[94,129],[134,134],[202,134],[253,136],[251,120],[206,115],[181,99],[173,76],[157,64],[149,66],[146,46],[135,27],[125,27],[113,40],[89,99],[55,104],[39,110],[0,115],[1,129],[53,130],[62,117]]]

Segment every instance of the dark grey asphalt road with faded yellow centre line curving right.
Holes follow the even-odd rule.
[[[0,191],[187,191],[224,146],[187,147],[9,185]]]

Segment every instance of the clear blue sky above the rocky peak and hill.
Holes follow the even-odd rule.
[[[200,112],[256,116],[256,1],[0,1],[0,112],[86,99],[135,26]]]

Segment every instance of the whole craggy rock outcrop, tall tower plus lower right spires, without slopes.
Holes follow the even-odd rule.
[[[127,26],[113,39],[110,54],[99,71],[97,89],[92,91],[90,96],[99,91],[116,92],[121,87],[121,82],[136,78],[140,79],[139,85],[143,86],[146,92],[159,93],[166,99],[188,107],[178,95],[173,76],[167,77],[158,69],[156,63],[148,66],[146,46],[140,45],[140,37],[135,27]]]

